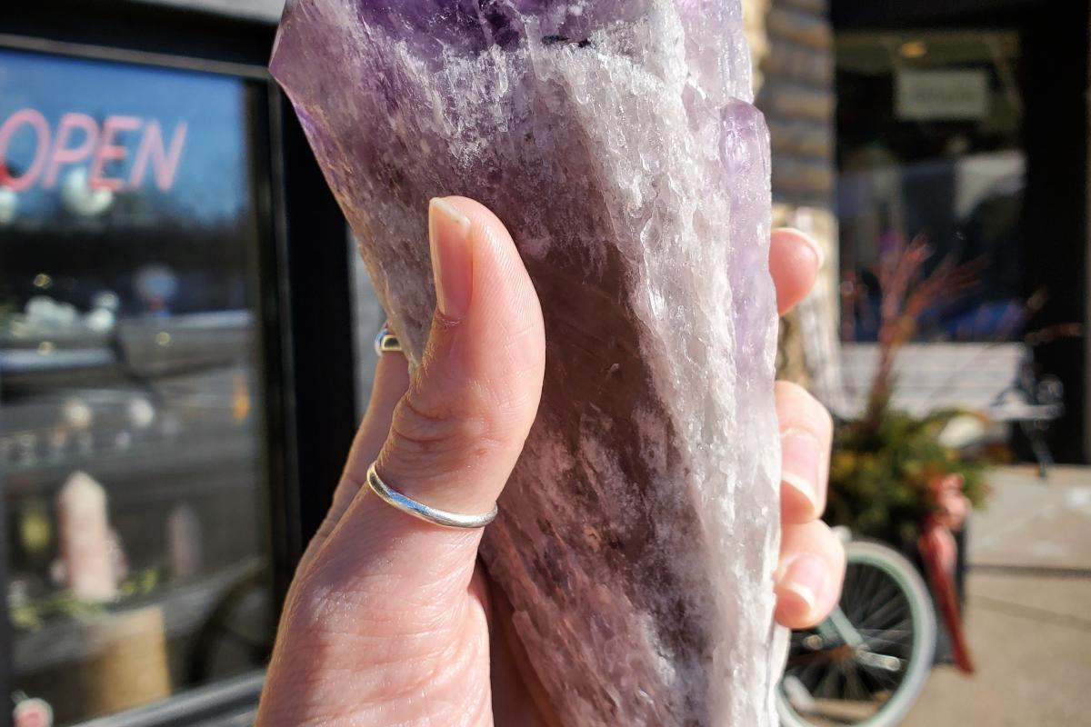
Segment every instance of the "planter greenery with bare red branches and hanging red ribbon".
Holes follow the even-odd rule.
[[[950,260],[924,275],[928,256],[928,246],[914,240],[899,244],[878,267],[877,365],[862,413],[835,429],[826,518],[906,554],[932,584],[948,631],[958,632],[950,625],[959,618],[963,524],[987,488],[985,460],[967,456],[957,440],[967,429],[982,429],[983,416],[956,409],[913,415],[891,403],[898,352],[912,340],[922,314],[973,284],[975,268]],[[950,635],[956,661],[969,670],[959,634]]]

